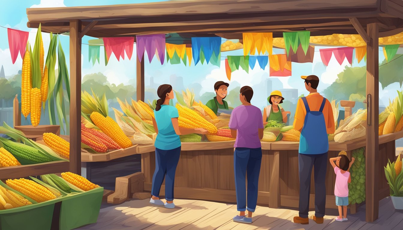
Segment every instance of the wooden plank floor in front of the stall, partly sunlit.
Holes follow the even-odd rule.
[[[98,222],[82,230],[191,230],[191,229],[272,229],[272,230],[400,230],[403,229],[403,211],[393,208],[391,199],[380,201],[379,219],[365,222],[365,205],[348,221],[336,222],[334,215],[326,215],[324,224],[310,220],[309,225],[294,224],[298,211],[291,209],[256,208],[252,224],[232,221],[237,215],[236,205],[197,200],[175,200],[175,209],[154,207],[146,200],[131,200],[121,205],[102,205]],[[334,214],[334,210],[330,213]],[[314,215],[314,211],[310,212]]]

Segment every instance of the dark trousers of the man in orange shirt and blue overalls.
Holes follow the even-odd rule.
[[[311,193],[311,175],[314,167],[315,180],[315,216],[324,217],[326,206],[326,168],[328,153],[298,154],[299,168],[299,216],[308,218],[309,198]]]

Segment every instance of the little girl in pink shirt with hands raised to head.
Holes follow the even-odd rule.
[[[339,153],[338,157],[330,158],[330,164],[333,166],[334,173],[336,174],[336,183],[334,184],[334,195],[336,196],[336,205],[339,207],[339,216],[336,221],[347,220],[347,205],[349,205],[349,186],[351,182],[350,167],[354,163],[354,157],[351,162],[345,152]],[[334,164],[336,161],[336,164]],[[344,216],[342,215],[342,209]]]

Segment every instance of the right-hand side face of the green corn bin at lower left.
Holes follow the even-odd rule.
[[[60,230],[71,230],[96,223],[101,208],[104,188],[62,197],[60,207]]]

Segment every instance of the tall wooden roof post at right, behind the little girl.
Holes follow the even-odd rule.
[[[378,219],[379,178],[378,167],[379,136],[379,67],[378,67],[378,25],[367,25],[370,42],[367,43],[367,127],[366,127],[366,221]]]

